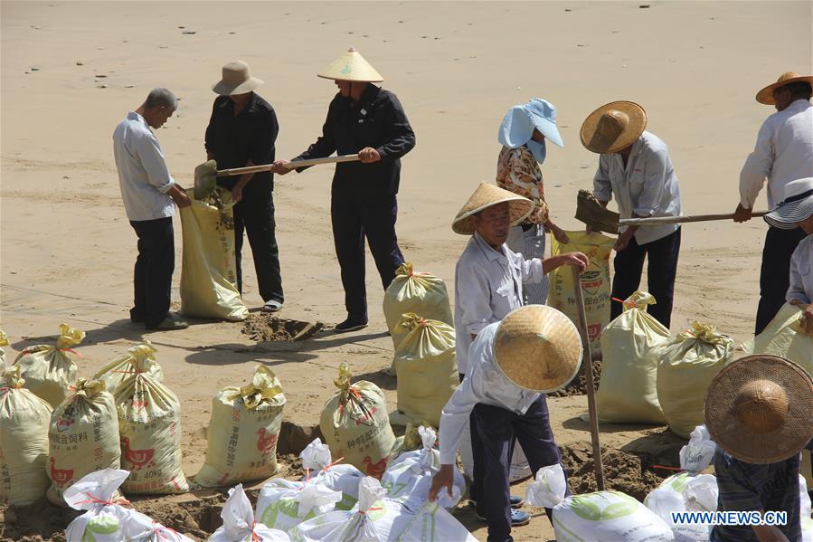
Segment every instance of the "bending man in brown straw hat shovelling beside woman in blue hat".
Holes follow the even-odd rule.
[[[593,111],[581,125],[581,144],[597,153],[599,168],[593,178],[593,195],[605,207],[613,195],[621,218],[679,216],[680,186],[666,144],[644,131],[647,112],[631,101],[614,101]],[[617,318],[621,303],[641,282],[648,260],[648,291],[657,303],[649,314],[666,328],[672,318],[680,226],[627,226],[619,228],[613,265],[610,319]]]

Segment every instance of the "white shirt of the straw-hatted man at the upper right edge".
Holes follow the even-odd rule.
[[[768,209],[785,199],[785,185],[813,176],[813,104],[796,100],[762,123],[740,172],[740,204],[752,209],[768,178]]]

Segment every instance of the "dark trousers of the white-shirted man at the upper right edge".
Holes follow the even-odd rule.
[[[760,304],[757,308],[754,335],[759,335],[767,328],[770,320],[785,304],[785,295],[790,287],[790,256],[804,237],[805,232],[801,228],[782,230],[770,226],[768,233],[765,233],[760,271]]]

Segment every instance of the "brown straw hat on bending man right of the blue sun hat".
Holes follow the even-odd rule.
[[[647,128],[647,111],[634,101],[613,101],[588,115],[581,124],[581,145],[598,154],[629,147]]]

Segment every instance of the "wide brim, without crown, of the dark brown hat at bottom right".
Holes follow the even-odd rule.
[[[754,380],[770,380],[788,396],[786,421],[770,433],[749,431],[736,414],[739,390]],[[766,464],[789,459],[813,437],[813,379],[782,357],[742,357],[724,366],[709,385],[705,425],[714,442],[740,461]]]

